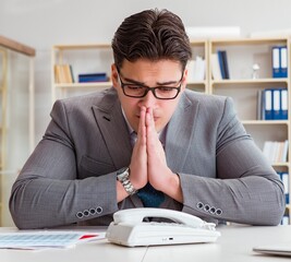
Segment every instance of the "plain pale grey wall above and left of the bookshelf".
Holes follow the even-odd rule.
[[[186,27],[239,26],[242,37],[291,31],[289,0],[0,0],[0,35],[36,49],[35,143],[50,120],[51,47],[110,43],[125,16],[150,8],[173,11]]]

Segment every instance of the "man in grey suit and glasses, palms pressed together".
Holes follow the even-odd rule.
[[[182,21],[167,10],[134,14],[112,49],[112,88],[56,102],[12,188],[15,225],[108,225],[118,210],[141,206],[278,225],[282,183],[231,99],[186,90]]]

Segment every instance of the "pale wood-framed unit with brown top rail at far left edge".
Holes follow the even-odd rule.
[[[0,225],[13,226],[10,190],[34,150],[35,49],[0,36]]]

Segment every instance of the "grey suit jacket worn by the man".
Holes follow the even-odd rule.
[[[166,196],[160,207],[206,221],[280,223],[282,183],[246,134],[230,98],[186,90],[168,123],[165,151],[184,200]],[[116,211],[143,206],[136,194],[117,203],[117,170],[129,166],[131,154],[113,88],[56,102],[44,139],[12,188],[16,226],[108,225]]]

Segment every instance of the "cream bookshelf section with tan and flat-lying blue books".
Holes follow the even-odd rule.
[[[111,86],[111,81],[78,83],[81,73],[106,72],[110,75],[113,56],[110,44],[56,45],[51,49],[52,102],[56,99],[101,91]],[[56,64],[70,64],[73,83],[56,81]]]

